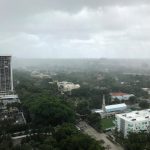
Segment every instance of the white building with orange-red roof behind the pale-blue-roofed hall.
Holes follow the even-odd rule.
[[[110,95],[112,97],[112,101],[114,101],[114,99],[118,99],[120,101],[129,100],[130,97],[135,96],[134,94],[127,94],[122,92],[110,93]]]

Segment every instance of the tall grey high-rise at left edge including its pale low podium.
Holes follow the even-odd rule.
[[[18,95],[14,94],[12,57],[9,55],[0,56],[0,103],[5,108],[8,103],[19,102]]]

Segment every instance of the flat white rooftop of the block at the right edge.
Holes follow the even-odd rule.
[[[149,121],[150,120],[150,109],[132,111],[130,113],[117,114],[116,117],[122,118],[126,121]]]

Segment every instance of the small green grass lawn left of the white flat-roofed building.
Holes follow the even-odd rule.
[[[114,118],[104,118],[101,120],[102,129],[111,128],[114,126],[113,124]]]

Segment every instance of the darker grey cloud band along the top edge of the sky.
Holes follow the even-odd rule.
[[[76,13],[83,7],[97,9],[107,6],[149,5],[149,0],[0,0],[0,18],[5,21],[50,10]],[[10,17],[11,16],[11,17]]]

